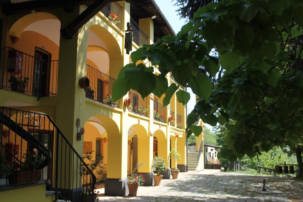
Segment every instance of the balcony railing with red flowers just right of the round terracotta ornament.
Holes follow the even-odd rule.
[[[128,97],[131,98],[131,106],[129,106],[128,110],[147,117],[149,109],[148,98],[143,99],[137,91],[132,89],[128,92]]]

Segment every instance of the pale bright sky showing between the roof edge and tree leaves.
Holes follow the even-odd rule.
[[[174,29],[175,33],[177,34],[183,25],[185,25],[185,20],[180,19],[178,12],[176,10],[178,7],[174,6],[175,1],[171,2],[171,0],[155,0],[159,8],[161,9],[161,12],[165,15],[165,18],[168,20],[171,27]],[[187,104],[187,111],[190,113],[194,107],[195,107],[195,94],[191,91],[191,88],[187,88],[187,91],[189,92],[190,100]],[[208,128],[212,129],[212,126],[205,124]]]

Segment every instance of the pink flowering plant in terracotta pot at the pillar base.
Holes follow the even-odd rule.
[[[145,179],[142,174],[138,175],[138,168],[142,166],[142,163],[138,163],[136,167],[133,168],[132,174],[127,176],[127,186],[129,190],[128,196],[136,196],[139,186],[142,186]]]

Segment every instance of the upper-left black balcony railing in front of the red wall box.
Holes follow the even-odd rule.
[[[1,50],[1,88],[37,97],[56,96],[58,60],[44,61],[16,49]]]

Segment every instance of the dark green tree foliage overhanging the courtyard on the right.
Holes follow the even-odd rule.
[[[134,63],[120,71],[113,99],[133,88],[142,97],[165,94],[169,100],[177,90],[168,86],[172,72],[199,97],[187,117],[188,137],[200,131],[195,123],[201,118],[212,126],[228,122],[219,155],[230,161],[275,146],[296,147],[303,129],[302,13],[299,0],[208,3],[176,36],[131,54]],[[145,59],[151,66],[137,63]],[[178,100],[187,100],[182,96]]]

